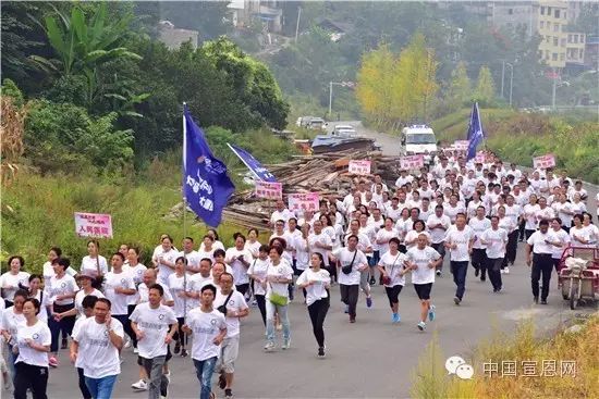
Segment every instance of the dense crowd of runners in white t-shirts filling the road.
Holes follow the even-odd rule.
[[[78,373],[82,397],[110,398],[122,352],[132,350],[139,367],[132,389],[147,390],[150,399],[176,392],[169,389],[173,356],[192,358],[201,399],[213,397],[213,374],[224,397],[232,398],[240,321],[250,308],[264,322],[264,349],[286,350],[289,303],[304,301],[315,354],[325,358],[333,285],[350,323],[357,320],[360,294],[371,308],[371,290],[379,285],[390,322],[401,323],[400,295],[411,282],[419,309],[402,311],[417,314],[415,327],[425,332],[436,317],[437,277],[452,276],[455,306],[467,300],[470,265],[476,277],[489,280],[490,291],[501,292],[517,244],[526,241],[521,248],[530,266],[531,299],[546,304],[563,249],[598,245],[587,191],[565,173],[525,173],[490,153],[487,162],[476,163],[452,152],[408,172],[401,171],[395,182],[356,177],[349,194],[322,198],[316,213],[296,214],[280,200],[271,232],[235,233],[228,249],[216,229],[199,242],[184,237],[181,251],[164,234],[147,266],[139,263],[139,248],[123,244],[105,258],[95,240],[76,263],[51,248],[42,274],[25,272],[25,260],[11,257],[0,277],[7,388],[14,385],[16,399],[27,391],[46,398],[49,367],[73,366],[59,364],[58,352],[64,350]]]

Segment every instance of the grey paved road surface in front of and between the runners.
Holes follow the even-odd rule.
[[[399,140],[378,135],[377,140],[390,153]],[[592,191],[594,198],[596,191]],[[445,270],[448,262],[445,261]],[[491,334],[492,326],[512,329],[518,320],[534,317],[540,331],[551,331],[572,317],[552,280],[549,304],[533,306],[529,272],[524,264],[524,249],[518,248],[516,265],[503,275],[504,291],[492,294],[490,283],[475,278],[468,271],[466,296],[462,306],[453,304],[454,284],[444,273],[432,289],[438,319],[426,333],[416,329],[418,300],[412,285],[400,296],[399,325],[390,323],[390,311],[382,287],[375,287],[372,309],[366,309],[360,297],[357,323],[349,324],[339,300],[338,287],[332,288],[332,306],[326,321],[328,358],[316,358],[307,311],[295,301],[291,304],[292,348],[289,351],[265,353],[264,327],[257,309],[242,325],[241,353],[236,364],[234,394],[236,398],[405,398],[409,396],[411,374],[419,356],[438,333],[444,357],[460,354],[466,360],[480,339]],[[583,308],[577,313],[590,313]],[[123,372],[114,398],[144,398],[130,385],[137,381],[137,366],[131,349],[125,351]],[[78,398],[76,373],[69,365],[66,353],[60,354],[61,366],[50,372],[50,398]],[[525,359],[523,359],[525,360]],[[193,363],[175,358],[171,363],[170,398],[197,398],[198,383]],[[480,372],[480,371],[477,371]],[[218,397],[223,397],[217,389]]]

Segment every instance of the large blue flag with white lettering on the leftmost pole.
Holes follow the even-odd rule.
[[[183,195],[207,225],[217,227],[235,186],[227,166],[216,159],[187,107],[183,112]]]

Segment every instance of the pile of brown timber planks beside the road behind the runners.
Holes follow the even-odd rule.
[[[352,179],[347,165],[350,160],[370,160],[371,173],[395,183],[399,175],[399,158],[384,157],[380,152],[346,150],[314,155],[295,155],[293,161],[265,165],[277,180],[283,184],[283,194],[319,192],[320,197],[337,194],[342,198],[350,191]],[[256,198],[254,190],[233,195],[223,211],[223,219],[244,227],[267,227],[274,201]]]

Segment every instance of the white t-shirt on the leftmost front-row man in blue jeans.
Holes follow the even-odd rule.
[[[121,322],[112,317],[110,326],[114,334],[124,337]],[[96,317],[86,319],[73,334],[73,339],[80,344],[78,357],[86,377],[103,378],[121,374],[119,349],[112,345],[109,335],[106,324],[98,324]]]

